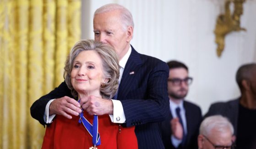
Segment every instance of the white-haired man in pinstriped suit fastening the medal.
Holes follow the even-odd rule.
[[[120,85],[115,96],[111,100],[90,96],[78,103],[66,82],[62,82],[33,103],[32,117],[49,125],[55,115],[69,119],[79,115],[82,106],[90,115],[109,114],[120,127],[135,126],[140,149],[163,149],[160,126],[170,113],[169,68],[165,62],[140,54],[131,46],[133,31],[131,12],[124,6],[108,4],[98,8],[93,18],[94,39],[112,46],[120,61]],[[119,134],[122,132],[120,129]]]

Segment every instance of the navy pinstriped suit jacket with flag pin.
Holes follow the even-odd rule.
[[[125,112],[125,125],[136,126],[140,149],[163,149],[160,122],[170,113],[167,93],[169,67],[165,62],[131,48],[118,94]],[[33,103],[30,108],[32,117],[44,125],[46,104],[50,99],[64,96],[72,98],[71,91],[62,82],[59,87]]]

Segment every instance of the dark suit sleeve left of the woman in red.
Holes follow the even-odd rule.
[[[46,123],[44,122],[44,111],[46,104],[51,99],[61,98],[64,96],[73,98],[71,95],[71,90],[67,87],[65,82],[62,82],[59,87],[54,88],[53,91],[49,92],[47,95],[42,96],[32,104],[30,107],[31,116],[37,119],[42,125],[45,125]]]

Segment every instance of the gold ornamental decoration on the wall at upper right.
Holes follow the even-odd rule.
[[[215,26],[215,42],[217,43],[217,55],[221,56],[225,46],[225,36],[232,31],[246,31],[240,27],[240,15],[243,14],[243,3],[245,0],[225,0],[225,13],[218,15]],[[234,4],[231,14],[230,6]]]

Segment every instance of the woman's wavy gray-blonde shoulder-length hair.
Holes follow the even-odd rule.
[[[71,89],[72,95],[75,98],[78,98],[78,94],[71,84],[71,71],[73,68],[73,63],[78,54],[82,51],[88,50],[96,51],[101,57],[103,76],[106,80],[108,80],[108,82],[101,84],[100,94],[103,96],[103,98],[111,99],[118,88],[118,78],[120,75],[119,61],[114,49],[103,42],[94,40],[81,40],[76,42],[65,62],[65,82]]]

